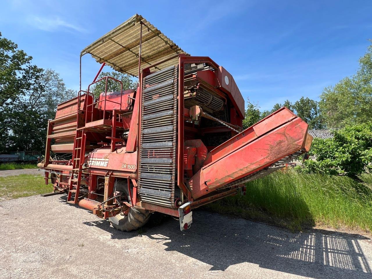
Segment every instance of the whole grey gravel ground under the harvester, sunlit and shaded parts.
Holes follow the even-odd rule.
[[[71,206],[64,195],[0,203],[0,278],[372,278],[368,237],[288,230],[194,211],[142,234]]]

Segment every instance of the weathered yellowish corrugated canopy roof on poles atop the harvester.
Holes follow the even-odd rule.
[[[142,22],[141,70],[149,65],[174,57],[155,66],[164,69],[178,62],[177,54],[186,54],[167,36],[141,15],[134,15],[81,51],[81,55],[92,54],[97,62],[106,62],[114,70],[138,76],[140,32]]]

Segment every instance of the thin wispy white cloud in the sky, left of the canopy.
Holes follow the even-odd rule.
[[[39,16],[30,16],[27,18],[27,22],[37,29],[49,31],[49,32],[55,31],[61,28],[67,29],[67,30],[74,30],[74,31],[81,32],[81,33],[87,32],[87,30],[82,28],[81,26],[66,22],[60,17],[46,18],[46,17],[39,17]]]

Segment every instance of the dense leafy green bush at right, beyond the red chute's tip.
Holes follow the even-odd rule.
[[[372,124],[346,126],[328,139],[314,138],[302,171],[356,177],[372,169]]]

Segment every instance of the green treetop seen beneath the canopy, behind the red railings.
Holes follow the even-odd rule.
[[[137,89],[137,81],[132,81],[132,78],[128,76],[127,74],[122,74],[116,71],[112,72],[102,72],[99,74],[97,80],[103,77],[113,77],[117,80],[120,80],[123,83],[123,91],[128,90],[128,89]],[[89,88],[89,92],[92,92],[94,97],[98,98],[99,94],[102,92],[105,92],[105,84],[106,81],[105,79],[97,82],[93,86]],[[107,92],[115,92],[115,91],[120,91],[121,89],[121,84],[118,81],[108,79],[107,80]]]

